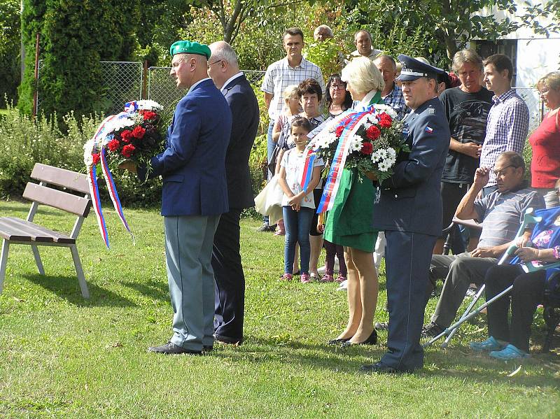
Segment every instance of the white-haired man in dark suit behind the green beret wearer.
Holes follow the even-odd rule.
[[[224,94],[232,111],[232,134],[225,155],[230,211],[224,213],[214,236],[212,267],[216,279],[214,337],[222,343],[241,344],[245,309],[245,276],[239,254],[239,216],[254,205],[249,155],[258,129],[258,101],[239,71],[237,55],[224,41],[209,45],[208,75]]]

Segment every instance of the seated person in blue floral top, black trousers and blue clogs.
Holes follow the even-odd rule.
[[[560,195],[560,180],[556,182]],[[513,285],[510,294],[496,299],[487,308],[489,338],[470,343],[476,351],[491,357],[512,360],[528,357],[531,323],[538,304],[544,302],[545,290],[560,297],[560,207],[535,212],[542,217],[531,239],[519,238],[512,264],[494,266],[486,272],[486,301]],[[511,321],[507,311],[510,308]]]

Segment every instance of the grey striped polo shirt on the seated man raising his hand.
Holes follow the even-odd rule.
[[[537,192],[524,188],[514,192],[496,190],[475,201],[478,220],[482,220],[479,248],[500,246],[515,239],[527,208],[545,208]]]

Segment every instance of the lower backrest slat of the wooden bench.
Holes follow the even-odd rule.
[[[36,185],[36,183],[27,183],[25,191],[23,192],[23,197],[30,201],[52,206],[82,217],[87,217],[87,214],[90,212],[90,199],[78,197],[50,187]]]

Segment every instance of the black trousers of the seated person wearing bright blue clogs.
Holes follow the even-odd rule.
[[[510,298],[506,294],[488,306],[489,336],[529,351],[531,324],[537,305],[544,298],[545,278],[544,269],[526,274],[519,265],[495,266],[486,272],[486,301],[513,285],[511,324],[507,320]]]

